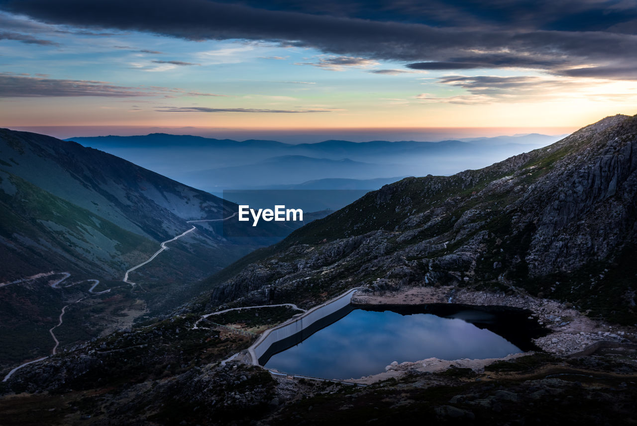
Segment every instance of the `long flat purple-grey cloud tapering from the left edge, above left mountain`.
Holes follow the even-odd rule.
[[[51,79],[0,72],[0,97],[140,97],[140,96],[224,96],[214,93],[187,92],[165,87],[127,87],[106,81]]]

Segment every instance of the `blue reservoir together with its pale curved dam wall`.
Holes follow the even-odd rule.
[[[329,380],[385,371],[393,361],[491,359],[538,349],[529,312],[505,306],[352,305],[357,289],[266,331],[252,364]]]

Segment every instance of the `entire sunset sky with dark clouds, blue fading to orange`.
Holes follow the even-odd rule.
[[[1,127],[431,140],[617,113],[636,0],[0,0]]]

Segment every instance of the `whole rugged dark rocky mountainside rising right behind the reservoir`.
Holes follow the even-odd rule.
[[[407,178],[208,280],[208,303],[347,287],[525,287],[636,322],[637,117],[449,177]]]

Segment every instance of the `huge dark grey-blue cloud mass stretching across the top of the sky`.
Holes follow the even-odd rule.
[[[340,57],[411,62],[416,69],[479,64],[552,71],[593,64],[604,77],[637,52],[634,0],[0,0],[0,7],[50,24],[280,41]]]

